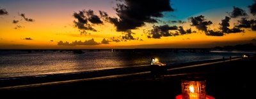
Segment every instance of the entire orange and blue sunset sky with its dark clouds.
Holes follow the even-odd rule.
[[[0,49],[256,43],[253,0],[0,0]]]

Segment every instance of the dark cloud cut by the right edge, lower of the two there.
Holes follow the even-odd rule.
[[[248,20],[247,18],[241,18],[238,20],[239,25],[236,25],[238,28],[251,28],[252,30],[256,30],[256,20]]]

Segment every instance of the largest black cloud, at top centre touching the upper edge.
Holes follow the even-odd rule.
[[[162,12],[173,11],[170,0],[120,0],[116,4],[118,18],[110,18],[109,22],[116,26],[117,31],[137,29],[145,23],[157,23],[156,18],[163,17]]]

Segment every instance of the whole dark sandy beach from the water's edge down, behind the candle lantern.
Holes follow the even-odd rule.
[[[170,99],[181,94],[182,79],[188,76],[201,76],[206,80],[207,95],[214,98],[252,98],[248,91],[253,85],[250,81],[254,78],[255,59],[255,56],[251,56],[168,65],[168,72],[159,77],[152,77],[148,67],[80,72],[60,77],[26,77],[1,81],[0,91],[2,96],[9,98]],[[136,72],[137,74],[134,74]],[[31,84],[36,85],[20,86]]]

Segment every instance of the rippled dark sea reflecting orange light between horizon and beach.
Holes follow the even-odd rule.
[[[90,70],[123,67],[140,67],[150,64],[151,58],[159,58],[166,64],[214,60],[241,56],[245,51],[194,51],[174,49],[154,50],[83,50],[73,51],[0,51],[0,78],[40,76]]]

